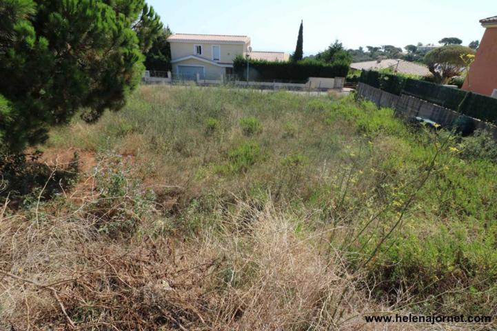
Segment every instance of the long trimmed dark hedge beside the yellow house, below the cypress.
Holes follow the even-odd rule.
[[[249,60],[251,81],[307,81],[309,77],[347,77],[349,66],[346,63],[325,64],[318,61],[272,62]],[[233,61],[234,73],[247,79],[247,60],[236,57]]]

